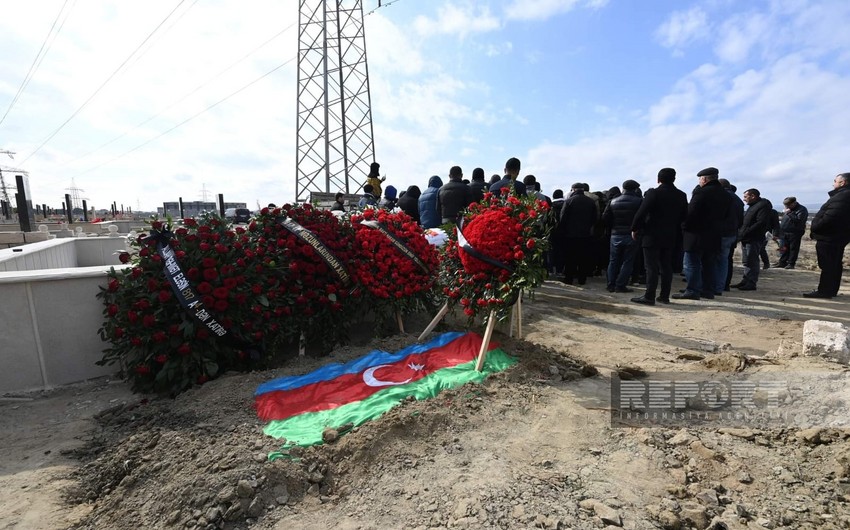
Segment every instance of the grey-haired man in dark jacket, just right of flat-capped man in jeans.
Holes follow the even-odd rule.
[[[748,208],[744,212],[744,223],[738,229],[744,277],[735,287],[742,291],[755,291],[761,270],[759,255],[765,245],[764,234],[773,225],[771,216],[776,215],[776,212],[773,211],[770,201],[762,198],[759,190],[755,188],[744,192],[744,202],[747,203]]]

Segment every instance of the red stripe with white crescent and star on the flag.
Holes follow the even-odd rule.
[[[442,368],[469,362],[478,355],[481,341],[481,336],[467,333],[445,346],[408,355],[392,364],[292,390],[266,392],[256,397],[257,415],[263,421],[283,420],[360,401],[390,386],[411,383]],[[496,347],[498,344],[491,342],[488,349]]]

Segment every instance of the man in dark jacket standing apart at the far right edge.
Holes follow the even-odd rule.
[[[806,298],[832,298],[841,284],[844,247],[850,242],[850,173],[836,175],[829,199],[812,219],[812,239],[816,240],[820,281]]]

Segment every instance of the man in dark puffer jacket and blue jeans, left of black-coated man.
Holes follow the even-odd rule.
[[[632,239],[632,221],[640,208],[640,184],[634,180],[623,182],[623,194],[608,203],[602,220],[611,231],[608,251],[608,292],[630,293],[626,283],[632,274],[637,241]]]

